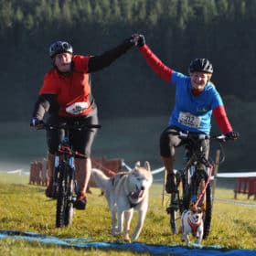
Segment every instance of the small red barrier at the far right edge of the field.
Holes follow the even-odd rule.
[[[234,193],[235,199],[237,199],[238,194],[246,194],[248,199],[254,196],[254,200],[256,200],[256,177],[238,177]]]

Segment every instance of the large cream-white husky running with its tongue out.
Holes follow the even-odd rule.
[[[108,200],[112,212],[112,235],[116,236],[123,232],[124,224],[124,240],[130,241],[130,223],[133,210],[137,210],[138,223],[133,231],[132,240],[138,239],[148,208],[149,187],[153,182],[149,163],[145,162],[142,167],[140,162],[137,162],[132,171],[118,173],[112,177],[105,176],[101,170],[95,168],[91,169],[91,174]]]

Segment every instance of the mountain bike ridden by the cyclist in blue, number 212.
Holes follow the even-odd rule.
[[[223,134],[210,136],[204,133],[172,133],[181,139],[186,139],[186,162],[183,169],[175,172],[176,192],[171,194],[170,204],[166,208],[167,214],[170,214],[170,227],[172,232],[177,234],[177,219],[180,219],[184,210],[198,206],[204,211],[203,239],[206,239],[210,230],[213,204],[210,178],[214,174],[215,166],[210,158],[205,157],[200,141],[205,139],[217,140],[221,145],[227,138]],[[222,146],[221,149],[223,152]]]

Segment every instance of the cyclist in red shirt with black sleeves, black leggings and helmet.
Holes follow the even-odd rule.
[[[92,72],[112,64],[134,45],[133,37],[124,40],[116,48],[99,56],[73,54],[72,46],[66,41],[57,41],[49,48],[49,57],[53,68],[45,75],[30,122],[39,128],[46,112],[48,123],[98,124],[97,105],[91,94]],[[75,208],[85,209],[86,189],[91,176],[91,145],[96,129],[82,129],[73,132],[72,147],[80,155],[76,156],[75,166],[78,177],[79,195]],[[47,130],[49,184],[46,196],[52,197],[54,159],[59,146],[59,131]]]

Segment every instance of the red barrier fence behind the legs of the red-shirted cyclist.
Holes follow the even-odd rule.
[[[106,157],[91,157],[93,168],[101,169],[106,176],[113,176],[122,171],[123,159]],[[48,161],[33,161],[30,164],[29,184],[38,186],[47,186],[48,184]],[[89,187],[96,187],[94,180],[90,179]]]

